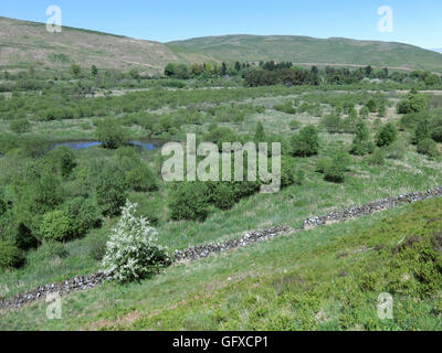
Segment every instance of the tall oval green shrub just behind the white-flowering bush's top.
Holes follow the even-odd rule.
[[[123,171],[116,165],[105,167],[97,176],[95,194],[97,205],[104,215],[117,215],[126,200],[126,183]]]

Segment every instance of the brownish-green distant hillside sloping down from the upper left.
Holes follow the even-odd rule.
[[[25,67],[40,63],[45,67],[82,66],[139,67],[148,73],[161,72],[178,57],[164,44],[134,40],[94,31],[63,26],[49,33],[45,24],[0,17],[0,68]]]

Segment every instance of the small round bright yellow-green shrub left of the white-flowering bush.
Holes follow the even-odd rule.
[[[64,242],[72,237],[72,220],[63,211],[49,212],[43,216],[40,232],[45,239]]]

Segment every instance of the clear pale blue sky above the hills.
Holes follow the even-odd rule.
[[[62,23],[168,42],[221,34],[344,36],[442,47],[441,0],[1,0],[0,15],[46,22],[49,6]],[[380,33],[378,9],[393,9],[394,29]]]

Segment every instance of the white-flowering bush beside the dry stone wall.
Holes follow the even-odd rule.
[[[137,204],[129,201],[113,229],[103,258],[104,269],[117,281],[146,278],[170,265],[167,249],[157,243],[157,231],[144,217],[136,217]]]

